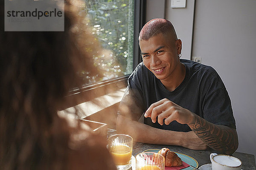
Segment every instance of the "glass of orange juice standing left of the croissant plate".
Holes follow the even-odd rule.
[[[112,135],[108,138],[108,149],[116,164],[117,170],[131,168],[132,137],[124,134]]]

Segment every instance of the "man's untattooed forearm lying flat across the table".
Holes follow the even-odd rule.
[[[137,142],[178,145],[194,150],[207,149],[207,144],[192,131],[175,132],[157,129],[122,115],[117,117],[116,129],[119,133],[129,134]]]

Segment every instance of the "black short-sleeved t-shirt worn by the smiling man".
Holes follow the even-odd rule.
[[[126,116],[138,120],[152,103],[166,98],[208,122],[236,129],[230,97],[218,73],[198,62],[187,59],[180,59],[180,62],[186,67],[186,75],[174,91],[168,91],[141,62],[128,78],[128,87],[120,103],[125,111],[120,109],[119,114],[129,113]],[[188,125],[176,121],[160,125],[144,118],[144,123],[165,130],[191,131]]]

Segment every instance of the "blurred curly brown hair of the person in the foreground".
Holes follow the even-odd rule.
[[[65,31],[0,31],[0,169],[115,168],[99,136],[71,128],[57,115],[70,89],[81,87],[80,71],[99,74],[91,59],[99,44],[77,2],[65,0]],[[1,28],[3,12],[1,0]],[[87,137],[70,142],[80,132]]]

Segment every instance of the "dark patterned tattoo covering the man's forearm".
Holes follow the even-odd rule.
[[[195,119],[189,123],[189,127],[212,149],[232,154],[238,147],[236,130],[230,127],[214,125],[198,115],[195,115]]]

